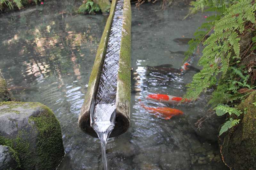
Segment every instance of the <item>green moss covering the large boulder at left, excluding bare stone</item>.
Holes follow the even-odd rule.
[[[16,136],[4,137],[0,134],[0,144],[9,146],[14,151],[14,157],[19,158],[22,169],[52,169],[57,167],[64,156],[60,123],[51,109],[40,103],[1,102],[0,106],[8,105],[10,109],[40,107],[41,114],[29,117],[28,122],[33,127],[30,131],[20,129]],[[38,133],[36,135],[36,133]],[[29,142],[33,141],[35,142]],[[35,143],[35,146],[31,144]],[[33,150],[36,148],[36,150]]]

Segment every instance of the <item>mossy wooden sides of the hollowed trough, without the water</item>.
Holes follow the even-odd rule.
[[[97,95],[101,70],[104,63],[106,49],[108,45],[108,35],[112,25],[115,12],[116,0],[112,1],[109,17],[103,31],[92,73],[88,83],[88,89],[85,96],[84,104],[78,118],[80,129],[85,133],[97,137],[90,126],[90,113],[94,108],[95,95]],[[120,47],[120,59],[117,78],[116,93],[116,125],[110,137],[118,136],[129,128],[130,122],[130,98],[131,98],[131,5],[129,0],[124,0],[123,6],[123,28]]]

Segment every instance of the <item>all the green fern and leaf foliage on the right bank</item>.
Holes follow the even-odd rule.
[[[256,36],[251,37],[251,42],[249,40],[249,48],[240,47],[240,43],[245,34],[255,34],[256,4],[252,0],[197,0],[191,2],[191,5],[193,7],[188,15],[198,11],[215,11],[216,14],[208,17],[207,22],[196,30],[195,39],[188,42],[189,49],[185,53],[185,60],[195,50],[199,54],[201,43],[204,46],[203,55],[198,62],[203,69],[195,74],[192,82],[187,85],[189,88],[184,98],[196,100],[208,88],[216,87],[209,101],[209,104],[215,107],[216,114],[240,116],[242,112],[236,109],[236,103],[245,96],[240,90],[254,90],[253,85],[247,83],[250,74],[241,63],[253,53],[250,51],[256,49]],[[250,54],[244,57],[248,51]],[[254,65],[250,68],[253,67]],[[229,106],[224,105],[227,103]],[[230,118],[222,126],[220,135],[239,121]]]

